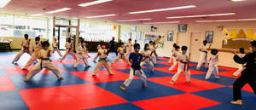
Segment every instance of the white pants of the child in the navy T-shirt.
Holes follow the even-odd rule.
[[[124,85],[128,87],[131,84],[132,79],[134,78],[134,75],[143,80],[144,84],[147,84],[147,77],[142,69],[140,70],[134,70],[133,68],[130,69],[130,77],[127,78],[124,82]]]

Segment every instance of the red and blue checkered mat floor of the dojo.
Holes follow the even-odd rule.
[[[247,85],[242,90],[243,106],[231,105],[232,84],[236,80],[232,73],[236,69],[219,67],[221,79],[205,80],[207,70],[195,70],[195,63],[190,63],[192,83],[186,83],[183,76],[177,84],[171,85],[173,72],[168,71],[167,59],[160,58],[155,72],[148,68],[143,71],[148,77],[148,88],[135,78],[128,90],[119,86],[129,77],[129,68],[119,61],[113,68],[113,76],[102,68],[92,77],[96,66],[90,58],[90,68],[81,62],[73,68],[74,60],[68,56],[60,62],[58,55],[53,62],[61,70],[64,80],[59,81],[48,70],[42,70],[32,80],[23,82],[28,71],[21,71],[29,55],[23,55],[17,65],[11,61],[17,53],[0,53],[0,110],[255,110],[256,97]],[[93,58],[96,54],[90,53]],[[110,61],[114,54],[108,55]],[[30,68],[31,69],[31,68]]]

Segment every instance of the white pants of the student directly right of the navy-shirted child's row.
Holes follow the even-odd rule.
[[[177,81],[177,78],[179,76],[179,74],[183,72],[186,76],[186,81],[189,82],[190,81],[190,72],[189,70],[185,70],[184,71],[184,66],[183,67],[178,67],[177,68],[177,72],[175,73],[175,75],[172,77],[172,81],[176,82]]]

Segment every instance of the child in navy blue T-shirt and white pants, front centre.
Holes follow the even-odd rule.
[[[135,52],[131,53],[131,55],[129,56],[129,61],[131,61],[130,77],[127,78],[124,84],[121,85],[120,87],[121,90],[126,90],[125,88],[127,88],[129,84],[131,84],[131,81],[134,78],[134,76],[137,76],[138,78],[143,80],[143,87],[145,88],[148,87],[147,80],[146,80],[147,77],[143,72],[142,67],[140,66],[140,63],[145,60],[143,59],[143,55],[139,53],[140,44],[139,43],[134,44],[134,49],[135,49]],[[148,58],[148,57],[145,57],[145,58]]]

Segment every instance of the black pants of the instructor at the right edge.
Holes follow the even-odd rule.
[[[241,89],[245,84],[249,84],[253,88],[256,95],[256,71],[244,70],[241,72],[241,77],[237,78],[233,84],[233,99],[234,101],[241,100]]]

